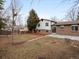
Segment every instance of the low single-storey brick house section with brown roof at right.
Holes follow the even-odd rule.
[[[59,22],[52,25],[57,34],[79,36],[79,21]]]

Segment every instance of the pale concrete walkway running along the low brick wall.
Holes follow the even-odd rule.
[[[68,38],[68,39],[71,39],[71,40],[79,40],[79,36],[59,35],[59,34],[56,34],[56,33],[53,33],[53,34],[48,35],[48,36],[55,37],[55,38]]]

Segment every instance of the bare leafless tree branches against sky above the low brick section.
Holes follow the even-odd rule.
[[[70,2],[72,0],[62,0],[61,3]],[[66,17],[70,18],[72,21],[76,20],[77,15],[79,13],[79,0],[73,0],[73,5],[66,15]]]

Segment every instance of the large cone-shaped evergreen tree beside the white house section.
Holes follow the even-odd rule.
[[[34,31],[36,32],[36,26],[39,22],[39,17],[38,15],[35,13],[35,10],[31,10],[30,13],[29,13],[29,17],[27,19],[27,27],[28,27],[28,30],[30,32]]]

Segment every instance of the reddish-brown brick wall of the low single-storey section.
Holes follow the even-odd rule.
[[[72,31],[71,25],[64,26],[63,29],[60,28],[60,26],[56,27],[56,33],[62,34],[62,35],[75,35],[79,36],[79,25],[78,25],[78,31]]]

